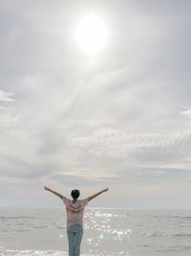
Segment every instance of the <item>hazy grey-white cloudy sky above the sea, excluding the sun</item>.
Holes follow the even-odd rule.
[[[0,1],[0,207],[191,209],[191,2]],[[101,51],[80,20],[107,28]]]

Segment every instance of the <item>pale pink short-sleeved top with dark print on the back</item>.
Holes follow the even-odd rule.
[[[76,223],[82,224],[84,207],[88,204],[88,198],[73,202],[73,200],[64,197],[63,202],[66,205],[67,226]]]

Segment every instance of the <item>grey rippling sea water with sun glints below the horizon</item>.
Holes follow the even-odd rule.
[[[68,255],[64,208],[0,208],[1,256]],[[191,210],[86,208],[83,256],[190,256]]]

